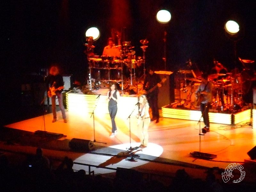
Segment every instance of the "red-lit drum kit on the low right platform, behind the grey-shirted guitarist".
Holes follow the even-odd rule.
[[[181,74],[185,75],[184,83],[180,84],[180,106],[190,104],[190,108],[196,106],[195,92],[202,82],[199,78],[186,78],[186,74],[192,73],[190,70],[179,70]],[[214,88],[212,90],[213,103],[219,111],[234,111],[239,110],[243,106],[243,78],[240,73],[233,74],[211,74],[208,76],[208,80],[212,82]],[[184,92],[185,99],[184,104],[181,105],[181,92]],[[183,94],[183,95],[184,95]]]

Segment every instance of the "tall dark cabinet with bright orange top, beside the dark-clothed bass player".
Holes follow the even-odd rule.
[[[162,84],[162,87],[158,87],[158,108],[169,105],[174,102],[174,74],[171,71],[155,71],[156,74],[159,74],[161,80],[165,80]]]

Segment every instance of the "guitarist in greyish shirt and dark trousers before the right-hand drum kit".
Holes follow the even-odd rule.
[[[208,74],[202,74],[202,83],[199,85],[196,90],[196,100],[200,102],[200,110],[204,119],[205,127],[202,129],[203,133],[210,131],[210,122],[209,122],[209,109],[212,103],[212,82],[208,81]]]

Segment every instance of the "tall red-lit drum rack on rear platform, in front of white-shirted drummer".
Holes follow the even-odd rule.
[[[89,38],[88,38],[89,39]],[[146,50],[147,40],[141,40],[143,43],[143,52]],[[85,44],[85,46],[92,47],[92,43]],[[117,45],[116,47],[121,46]],[[92,47],[94,48],[94,46]],[[145,73],[145,53],[142,57],[136,57],[134,46],[131,45],[130,41],[124,41],[122,48],[120,49],[120,57],[110,57],[107,55],[87,55],[89,61],[89,81],[90,84],[93,82],[117,82],[122,83],[124,78],[129,79],[129,87],[133,86],[133,80],[136,79],[136,75],[141,75],[141,67],[143,64]],[[93,50],[93,49],[92,49]],[[88,83],[89,83],[88,81]],[[92,90],[92,86],[90,87]]]

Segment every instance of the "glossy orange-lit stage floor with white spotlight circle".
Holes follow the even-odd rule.
[[[134,116],[131,116],[130,119],[117,116],[116,124],[118,132],[114,137],[109,137],[111,133],[109,115],[101,114],[97,116],[95,114],[95,135],[93,117],[91,115],[91,113],[79,115],[67,111],[68,123],[65,124],[59,111],[57,112],[58,117],[55,123],[52,123],[52,114],[47,114],[45,116],[38,116],[8,124],[5,127],[35,132],[37,130],[44,131],[45,123],[45,130],[47,132],[62,133],[64,135],[59,141],[68,141],[72,138],[91,141],[95,139],[96,142],[94,144],[96,150],[91,153],[65,152],[66,147],[58,151],[56,149],[58,147],[56,146],[56,148],[53,147],[51,149],[48,147],[44,150],[46,156],[59,156],[59,158],[63,157],[63,155],[69,156],[75,162],[75,170],[87,169],[83,165],[78,165],[79,163],[84,163],[110,168],[123,167],[147,172],[165,172],[165,175],[174,175],[175,170],[183,167],[189,174],[194,175],[194,177],[196,177],[195,174],[197,177],[204,177],[206,174],[205,169],[197,169],[197,167],[219,167],[225,169],[231,163],[244,164],[245,160],[250,160],[247,152],[256,145],[256,130],[252,129],[252,126],[248,122],[242,122],[236,125],[211,123],[211,131],[200,136],[200,146],[199,128],[204,127],[202,122],[200,125],[197,124],[197,121],[161,117],[158,124],[151,122],[149,125],[148,147],[142,149],[142,151],[135,151],[135,154],[139,154],[143,158],[131,162],[126,161],[125,156],[117,157],[116,155],[122,151],[124,152],[127,148],[140,145],[136,125],[137,119]],[[26,146],[20,146],[17,149],[15,146],[1,144],[0,147],[1,149],[4,148],[10,151],[30,150]],[[34,153],[34,149],[31,150],[33,151],[31,153]],[[196,159],[189,155],[193,151],[210,153],[217,155],[217,157],[212,160]],[[243,166],[246,166],[246,164]],[[107,173],[103,169],[102,171],[95,169],[95,172]],[[221,179],[221,174],[219,178]],[[256,178],[251,176],[250,179],[247,179],[255,180]]]

